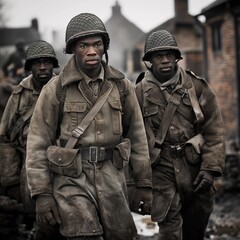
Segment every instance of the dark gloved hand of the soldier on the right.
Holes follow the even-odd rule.
[[[213,185],[214,176],[209,171],[200,171],[193,183],[195,193],[204,193],[210,190]]]

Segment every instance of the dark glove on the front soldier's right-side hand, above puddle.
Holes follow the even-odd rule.
[[[139,187],[136,188],[132,203],[132,211],[141,215],[150,214],[152,206],[152,189]]]

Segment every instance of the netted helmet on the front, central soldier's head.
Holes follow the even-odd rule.
[[[66,49],[65,52],[71,54],[71,45],[74,41],[82,37],[101,35],[103,37],[104,51],[109,48],[109,35],[106,28],[96,15],[92,13],[81,13],[73,17],[66,29]]]

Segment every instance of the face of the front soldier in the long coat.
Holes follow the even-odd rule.
[[[101,36],[82,38],[73,46],[73,53],[78,67],[87,75],[92,71],[99,71],[104,54]]]

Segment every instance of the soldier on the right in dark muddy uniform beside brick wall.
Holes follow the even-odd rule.
[[[224,128],[209,84],[178,61],[165,30],[145,43],[148,70],[137,79],[152,161],[152,220],[159,240],[203,240],[213,210],[214,178],[224,167]]]

